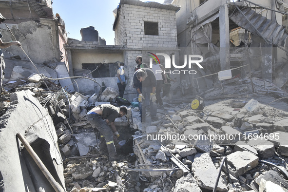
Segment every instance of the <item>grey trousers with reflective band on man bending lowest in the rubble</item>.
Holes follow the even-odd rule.
[[[98,114],[89,114],[86,115],[86,118],[93,128],[96,128],[101,134],[104,135],[109,156],[115,156],[116,148],[114,145],[114,135],[109,125],[102,119],[102,116]],[[101,147],[103,146],[103,142],[104,140],[100,139]]]

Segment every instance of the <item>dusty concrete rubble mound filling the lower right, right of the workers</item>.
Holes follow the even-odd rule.
[[[246,90],[244,87],[239,89]],[[218,96],[223,94],[219,89],[213,89],[213,92]],[[191,169],[192,174],[183,173],[182,170],[174,171],[172,175],[171,172],[165,172],[165,176],[177,178],[172,191],[212,191],[219,166],[225,156],[231,183],[224,168],[217,191],[270,190],[272,192],[271,186],[274,185],[275,189],[280,187],[279,189],[287,191],[288,105],[286,102],[275,101],[277,96],[273,93],[266,96],[261,93],[242,92],[246,94],[243,97],[224,94],[227,97],[234,97],[224,100],[212,98],[209,91],[206,93],[210,96],[205,100],[206,94],[203,94],[206,103],[203,112],[188,109],[190,103],[184,103],[185,101],[180,105],[170,103],[169,107],[164,108],[166,112],[170,113],[176,108],[183,110],[175,110],[169,115],[170,119],[166,118],[166,115],[158,115],[161,121],[142,127],[144,139],[143,137],[135,139],[134,147],[138,162],[149,165],[143,166],[142,169],[152,170],[153,165],[172,162],[169,157],[173,154]],[[250,103],[253,105],[251,106]],[[203,139],[199,135],[203,137],[206,135],[210,139]],[[165,146],[165,150],[161,149],[159,142]],[[270,165],[269,162],[277,167]],[[177,167],[173,162],[170,166],[163,165],[162,169]],[[275,175],[265,176],[272,171]],[[155,177],[164,173],[151,171],[144,174],[147,177]],[[281,181],[277,181],[280,178]],[[153,189],[146,189],[146,191],[153,191]]]

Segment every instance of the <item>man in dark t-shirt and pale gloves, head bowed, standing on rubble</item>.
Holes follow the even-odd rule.
[[[150,102],[150,116],[152,120],[157,120],[157,106],[156,106],[156,78],[153,71],[149,68],[142,68],[137,70],[134,73],[133,83],[135,89],[137,90],[138,101],[139,101],[139,110],[141,121],[145,122],[146,120],[146,99],[149,99]],[[142,90],[140,90],[142,86]]]

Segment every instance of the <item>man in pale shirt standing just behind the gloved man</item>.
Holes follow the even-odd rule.
[[[163,77],[164,77],[164,83],[167,83],[167,77],[164,74],[165,72],[165,68],[163,67],[163,65],[159,64],[159,63],[153,63],[152,65],[152,71],[155,74],[156,77],[156,81],[157,81],[157,86],[156,86],[156,103],[159,103],[159,109],[163,108],[163,101],[162,98],[160,96],[161,93],[161,89],[162,89],[162,85],[163,85]],[[162,71],[162,72],[160,72]]]

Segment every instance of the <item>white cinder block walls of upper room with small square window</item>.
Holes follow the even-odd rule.
[[[144,21],[158,22],[159,35],[144,35]],[[175,11],[122,4],[115,28],[115,45],[129,48],[176,47]]]

